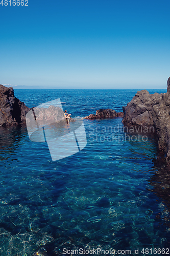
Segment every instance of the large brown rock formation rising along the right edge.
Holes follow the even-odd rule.
[[[123,111],[123,123],[125,125],[154,127],[158,135],[159,152],[169,162],[170,77],[167,80],[166,93],[150,94],[147,90],[138,91],[127,106],[123,107]]]

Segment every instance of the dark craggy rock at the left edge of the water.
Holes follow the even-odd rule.
[[[26,122],[30,110],[25,103],[15,98],[12,87],[0,84],[0,126],[15,125]]]

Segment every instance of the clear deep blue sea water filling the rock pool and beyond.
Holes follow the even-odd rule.
[[[15,96],[30,108],[60,98],[81,119],[98,109],[120,112],[136,92],[18,89]],[[0,255],[170,253],[170,182],[155,164],[155,138],[135,141],[122,118],[84,125],[86,147],[54,162],[45,142],[29,140],[26,125],[0,127]]]

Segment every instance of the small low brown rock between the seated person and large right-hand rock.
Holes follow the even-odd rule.
[[[115,110],[110,110],[110,109],[106,109],[106,110],[97,110],[95,115],[91,114],[89,116],[84,117],[83,119],[101,119],[101,118],[113,118],[113,117],[124,117],[124,113],[123,112],[118,112],[116,113]]]

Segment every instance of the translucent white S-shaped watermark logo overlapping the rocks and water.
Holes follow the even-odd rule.
[[[60,99],[32,108],[26,124],[31,141],[47,142],[52,161],[74,155],[87,144],[83,121],[65,118]]]

